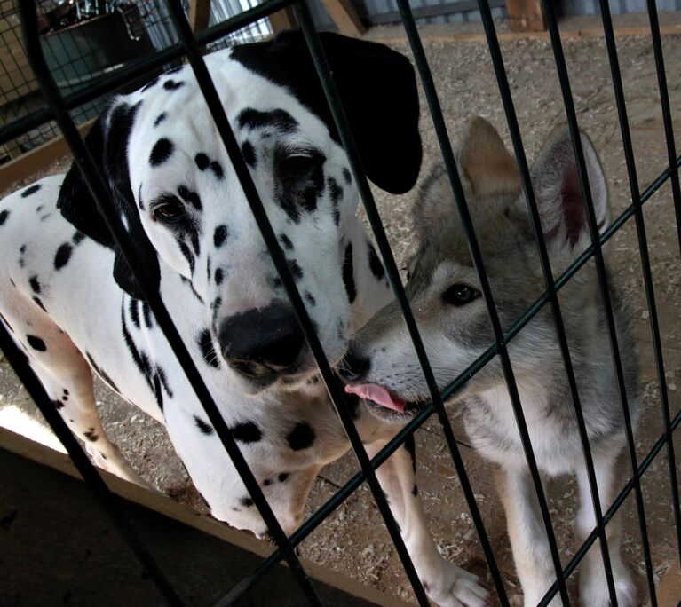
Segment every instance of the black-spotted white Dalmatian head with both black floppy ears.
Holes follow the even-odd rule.
[[[408,59],[381,44],[321,38],[368,178],[391,193],[408,191],[421,162]],[[303,36],[237,46],[206,62],[322,346],[337,359],[352,316],[341,242],[358,192]],[[165,272],[183,277],[202,299],[210,343],[244,386],[259,390],[313,369],[191,68],[115,99],[87,143],[154,287],[163,289]],[[141,298],[78,169],[59,206],[114,248],[115,280]]]

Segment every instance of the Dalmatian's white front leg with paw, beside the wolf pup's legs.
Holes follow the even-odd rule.
[[[376,441],[367,445],[369,457],[378,453],[386,442]],[[418,499],[414,438],[410,438],[407,445],[411,453],[401,446],[376,470],[376,477],[388,499],[392,516],[400,525],[402,539],[425,591],[441,607],[482,607],[489,604],[489,593],[480,586],[477,576],[440,556],[428,532],[424,508]]]

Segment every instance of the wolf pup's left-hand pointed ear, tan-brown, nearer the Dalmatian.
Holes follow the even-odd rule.
[[[476,196],[519,193],[520,173],[502,138],[484,118],[468,123],[459,147],[459,169]]]

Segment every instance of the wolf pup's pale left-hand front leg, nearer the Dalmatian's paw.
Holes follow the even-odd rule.
[[[556,581],[535,485],[524,466],[503,467],[498,471],[497,485],[506,510],[506,525],[525,605],[534,607]],[[558,595],[550,603],[552,607],[560,604]]]

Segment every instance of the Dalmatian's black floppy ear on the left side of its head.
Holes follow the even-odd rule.
[[[85,143],[106,177],[107,188],[118,216],[121,217],[123,225],[130,233],[140,258],[145,261],[147,275],[152,280],[150,287],[158,288],[160,280],[158,256],[139,220],[139,211],[132,194],[128,169],[128,139],[140,103],[141,101],[131,106],[121,101],[112,106],[92,125]],[[75,163],[64,178],[59,191],[58,207],[61,214],[78,230],[99,244],[114,249],[115,281],[131,296],[143,299],[137,281],[108,231],[90,189]]]

